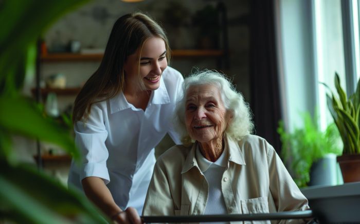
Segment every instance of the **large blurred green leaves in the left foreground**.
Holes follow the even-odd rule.
[[[80,153],[68,129],[44,117],[34,99],[21,96],[25,73],[34,68],[36,42],[65,12],[87,2],[0,1],[0,214],[18,223],[108,223],[82,194],[16,159],[12,136],[22,135],[61,146],[75,159]],[[65,117],[66,118],[66,117]],[[64,119],[64,117],[63,117]]]

